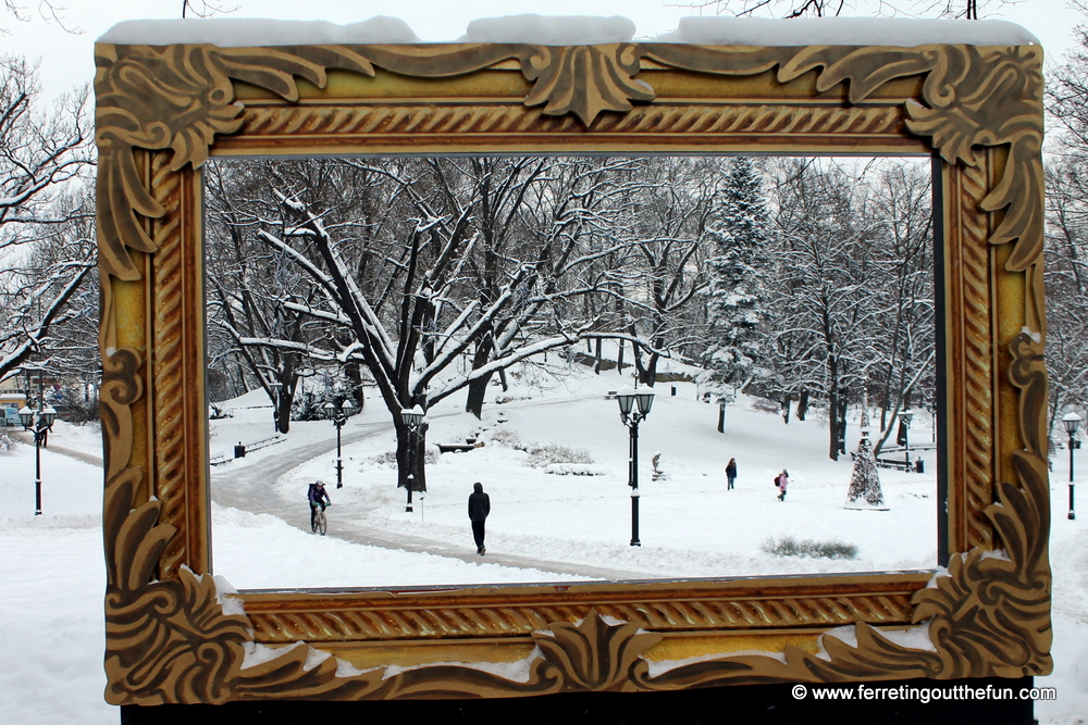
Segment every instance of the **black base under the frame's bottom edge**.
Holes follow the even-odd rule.
[[[851,725],[1034,725],[1035,708],[1019,693],[1034,677],[998,677],[934,683],[906,679],[867,683],[871,688],[911,693],[925,688],[925,699],[817,700],[803,698],[793,685],[708,687],[681,692],[642,695],[582,692],[546,695],[529,700],[416,700],[323,702],[232,702],[224,705],[122,705],[121,725],[325,725],[327,723],[442,723],[442,725],[709,725],[738,722],[758,725],[839,722]],[[858,684],[846,686],[858,692]],[[1015,699],[980,699],[989,691]],[[936,693],[935,693],[936,691]],[[917,696],[916,696],[917,697]]]

